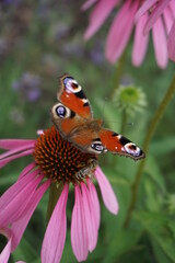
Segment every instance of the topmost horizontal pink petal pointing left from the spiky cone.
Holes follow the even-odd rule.
[[[36,140],[25,140],[25,139],[1,139],[0,140],[0,149],[11,150],[15,149],[16,147],[27,147],[28,145],[33,145]]]

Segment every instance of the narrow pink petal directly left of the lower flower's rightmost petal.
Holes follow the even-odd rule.
[[[101,222],[101,206],[100,206],[100,201],[97,197],[97,193],[96,193],[96,188],[94,186],[94,184],[91,182],[91,180],[88,180],[88,186],[89,186],[89,191],[90,191],[90,195],[92,198],[92,204],[93,204],[93,209],[94,209],[94,215],[95,215],[95,220],[96,220],[96,227],[100,227],[100,222]]]

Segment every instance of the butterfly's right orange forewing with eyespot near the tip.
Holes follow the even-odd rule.
[[[133,160],[145,157],[144,152],[136,144],[112,130],[102,128],[100,130],[100,139],[104,148],[112,153],[130,157]]]

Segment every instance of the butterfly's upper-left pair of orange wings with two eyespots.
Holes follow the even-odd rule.
[[[91,105],[81,85],[70,75],[60,78],[57,99],[51,108],[51,119],[61,136],[71,141],[70,136],[77,127],[93,118]]]

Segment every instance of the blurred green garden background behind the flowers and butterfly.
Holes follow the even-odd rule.
[[[106,32],[114,14],[89,42],[83,39],[90,11],[83,1],[1,0],[0,1],[0,137],[37,138],[36,130],[51,126],[50,107],[56,103],[59,77],[72,75],[90,99],[95,118],[137,142],[140,147],[150,122],[174,75],[174,64],[158,67],[152,43],[143,65],[131,65],[132,42],[119,64],[110,65],[104,55]],[[143,106],[122,111],[118,82],[139,88]],[[141,104],[141,105],[142,105]],[[139,107],[139,106],[138,106]],[[106,153],[100,164],[109,179],[119,202],[119,213],[106,210],[101,194],[101,228],[96,249],[86,262],[175,262],[175,100],[173,99],[151,141],[141,179],[137,209],[129,228],[124,229],[131,183],[139,163]],[[2,194],[18,179],[32,158],[22,158],[0,170]],[[67,207],[70,228],[73,191]],[[48,193],[42,199],[10,262],[40,262],[46,228]],[[0,248],[5,239],[0,236]],[[70,231],[61,262],[77,262]]]

